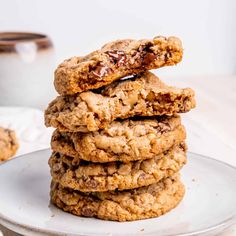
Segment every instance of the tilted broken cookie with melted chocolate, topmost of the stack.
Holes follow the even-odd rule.
[[[182,55],[176,37],[117,40],[84,57],[65,60],[55,71],[54,85],[62,95],[97,89],[128,75],[177,64]]]

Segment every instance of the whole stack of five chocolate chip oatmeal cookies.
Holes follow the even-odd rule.
[[[51,140],[51,200],[78,216],[131,221],[160,216],[181,201],[186,133],[178,113],[194,92],[149,72],[177,64],[175,37],[118,40],[55,71],[60,94],[45,112]]]

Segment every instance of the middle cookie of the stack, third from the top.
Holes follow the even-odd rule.
[[[180,116],[174,115],[113,121],[107,128],[89,133],[56,130],[51,147],[56,152],[86,161],[128,162],[154,158],[185,138]]]

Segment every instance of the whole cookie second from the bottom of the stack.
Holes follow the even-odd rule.
[[[49,159],[55,182],[81,192],[105,192],[139,188],[172,176],[186,163],[186,145],[172,147],[155,158],[128,163],[91,163],[60,153]]]

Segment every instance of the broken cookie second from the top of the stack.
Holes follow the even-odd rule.
[[[145,72],[100,91],[57,97],[45,111],[45,124],[61,131],[97,131],[118,118],[171,116],[194,107],[193,90],[167,86]]]

